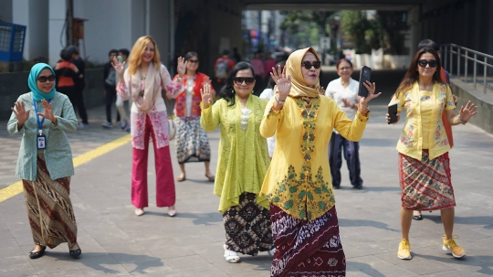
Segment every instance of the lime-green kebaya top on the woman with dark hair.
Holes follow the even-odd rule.
[[[242,109],[236,96],[233,106],[221,99],[202,109],[200,124],[205,131],[212,132],[221,124],[214,186],[215,195],[221,197],[220,212],[237,206],[242,193],[260,192],[270,163],[267,140],[258,132],[266,104],[266,100],[250,95],[247,109]],[[264,198],[257,197],[257,203],[269,208]]]

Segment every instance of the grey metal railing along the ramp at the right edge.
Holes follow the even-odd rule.
[[[472,61],[473,66],[473,82],[474,88],[476,89],[477,84],[477,69],[478,67],[483,67],[483,93],[486,94],[488,87],[488,69],[493,69],[493,56],[478,52],[473,49],[464,48],[458,46],[456,44],[444,44],[440,46],[440,51],[442,53],[442,63],[444,69],[448,71],[448,73],[453,76],[455,75],[460,79],[461,77],[461,69],[464,70],[464,81],[467,82],[467,74],[468,74],[468,61]],[[479,59],[478,59],[479,57]],[[454,59],[456,59],[456,74],[454,71]],[[464,67],[461,68],[461,60],[464,62]],[[488,62],[489,61],[489,62]]]

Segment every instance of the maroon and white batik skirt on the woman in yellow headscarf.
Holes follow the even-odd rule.
[[[335,206],[311,221],[294,218],[273,204],[270,215],[276,246],[270,276],[346,276]]]

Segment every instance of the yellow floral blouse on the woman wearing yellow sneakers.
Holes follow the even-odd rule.
[[[433,91],[420,91],[419,84],[393,97],[389,103],[397,103],[397,112],[405,109],[404,128],[397,143],[397,151],[421,160],[423,149],[428,149],[430,159],[450,150],[442,113],[456,108],[452,91],[445,83],[436,82]]]

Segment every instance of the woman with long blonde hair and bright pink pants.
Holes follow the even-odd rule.
[[[118,74],[117,91],[123,100],[130,97],[131,105],[131,145],[133,165],[131,171],[131,203],[135,214],[142,216],[143,208],[148,207],[147,159],[149,140],[154,146],[156,167],[156,205],[168,207],[168,215],[174,217],[175,192],[173,165],[170,156],[168,114],[161,91],[174,96],[183,91],[182,78],[185,72],[183,58],[178,58],[177,80],[171,80],[168,69],[159,59],[157,44],[151,36],[137,39],[131,49],[129,67],[125,62],[113,59],[113,68]]]

